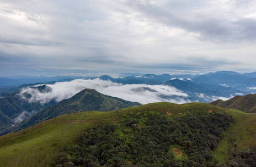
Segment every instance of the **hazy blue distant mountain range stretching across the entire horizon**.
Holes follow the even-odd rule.
[[[36,84],[54,84],[55,82],[71,81],[73,79],[78,79],[78,78],[81,79],[81,77],[74,77],[74,76],[31,77],[28,79],[25,79],[25,77],[20,77],[18,79],[15,79],[12,77],[11,78],[0,77],[0,94],[5,92],[7,93],[15,92],[22,87],[33,86],[33,84],[35,83]],[[223,87],[232,87],[237,90],[246,91],[246,93],[254,93],[254,92],[256,93],[256,72],[241,74],[241,73],[236,73],[234,71],[217,71],[216,73],[207,73],[203,75],[146,74],[146,75],[119,77],[119,78],[113,78],[108,75],[103,75],[100,77],[86,77],[84,79],[95,79],[95,78],[99,78],[101,80],[109,80],[109,81],[117,82],[120,84],[147,84],[147,85],[161,85],[164,82],[167,82],[172,79],[180,79],[180,80],[186,79],[186,80],[193,80],[198,84],[220,85]],[[11,81],[11,80],[15,80],[15,81]],[[12,84],[13,82],[15,82],[15,84]],[[22,85],[22,84],[25,84],[25,85]],[[19,85],[19,87],[15,87],[15,85],[16,86]],[[180,88],[180,86],[178,87]],[[181,90],[183,89],[184,88],[181,88]]]

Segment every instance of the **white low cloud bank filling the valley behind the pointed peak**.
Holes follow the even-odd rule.
[[[100,79],[78,79],[69,82],[56,82],[55,84],[47,84],[46,86],[50,88],[47,91],[40,91],[34,87],[26,87],[23,88],[19,94],[27,98],[29,102],[40,102],[42,104],[52,100],[60,102],[63,99],[72,97],[85,88],[93,88],[109,96],[119,97],[127,101],[140,102],[142,104],[152,102],[173,102],[180,104],[196,101],[211,101],[222,98],[207,96],[202,93],[186,93],[168,85],[125,85]],[[25,97],[24,94],[30,94],[30,96]]]

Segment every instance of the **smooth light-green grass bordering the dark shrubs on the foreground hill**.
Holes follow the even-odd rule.
[[[19,132],[10,133],[0,137],[0,166],[50,166],[52,157],[60,152],[62,146],[72,144],[76,137],[88,126],[97,124],[99,121],[117,120],[127,112],[138,112],[155,110],[161,113],[172,112],[178,114],[190,110],[214,109],[215,112],[227,112],[237,119],[220,145],[215,149],[214,156],[223,160],[222,149],[227,149],[229,136],[242,136],[247,139],[239,142],[238,148],[247,149],[255,141],[256,115],[246,114],[237,110],[225,110],[205,103],[173,104],[173,103],[151,103],[138,107],[116,110],[113,112],[83,112],[58,116],[57,118],[44,121],[35,126]],[[238,141],[238,140],[237,140]],[[46,164],[46,165],[45,165]]]

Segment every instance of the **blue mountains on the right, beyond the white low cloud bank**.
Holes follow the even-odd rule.
[[[231,71],[220,71],[217,73],[209,73],[205,75],[139,75],[114,79],[113,77],[104,75],[98,77],[101,80],[109,80],[121,84],[146,84],[146,85],[168,85],[177,88],[188,94],[188,97],[182,97],[186,101],[191,102],[210,102],[214,98],[223,97],[230,98],[236,95],[253,93],[253,84],[242,84],[243,79],[247,79],[250,83],[256,78],[246,75],[234,73]],[[93,78],[94,79],[94,78]],[[232,81],[232,82],[231,82]],[[235,83],[235,84],[234,84]],[[240,84],[239,84],[240,83]],[[246,82],[244,82],[246,83]],[[177,96],[162,96],[166,99],[180,98]]]

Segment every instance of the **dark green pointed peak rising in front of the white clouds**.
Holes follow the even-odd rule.
[[[54,118],[58,115],[70,114],[73,112],[88,112],[93,110],[109,111],[128,108],[135,105],[141,104],[137,102],[125,101],[124,99],[117,97],[106,96],[93,89],[87,88],[69,99],[64,99],[56,105],[42,109],[39,113],[31,116],[31,118],[24,121],[22,124],[19,124],[4,133],[21,130],[40,123],[41,121]]]

